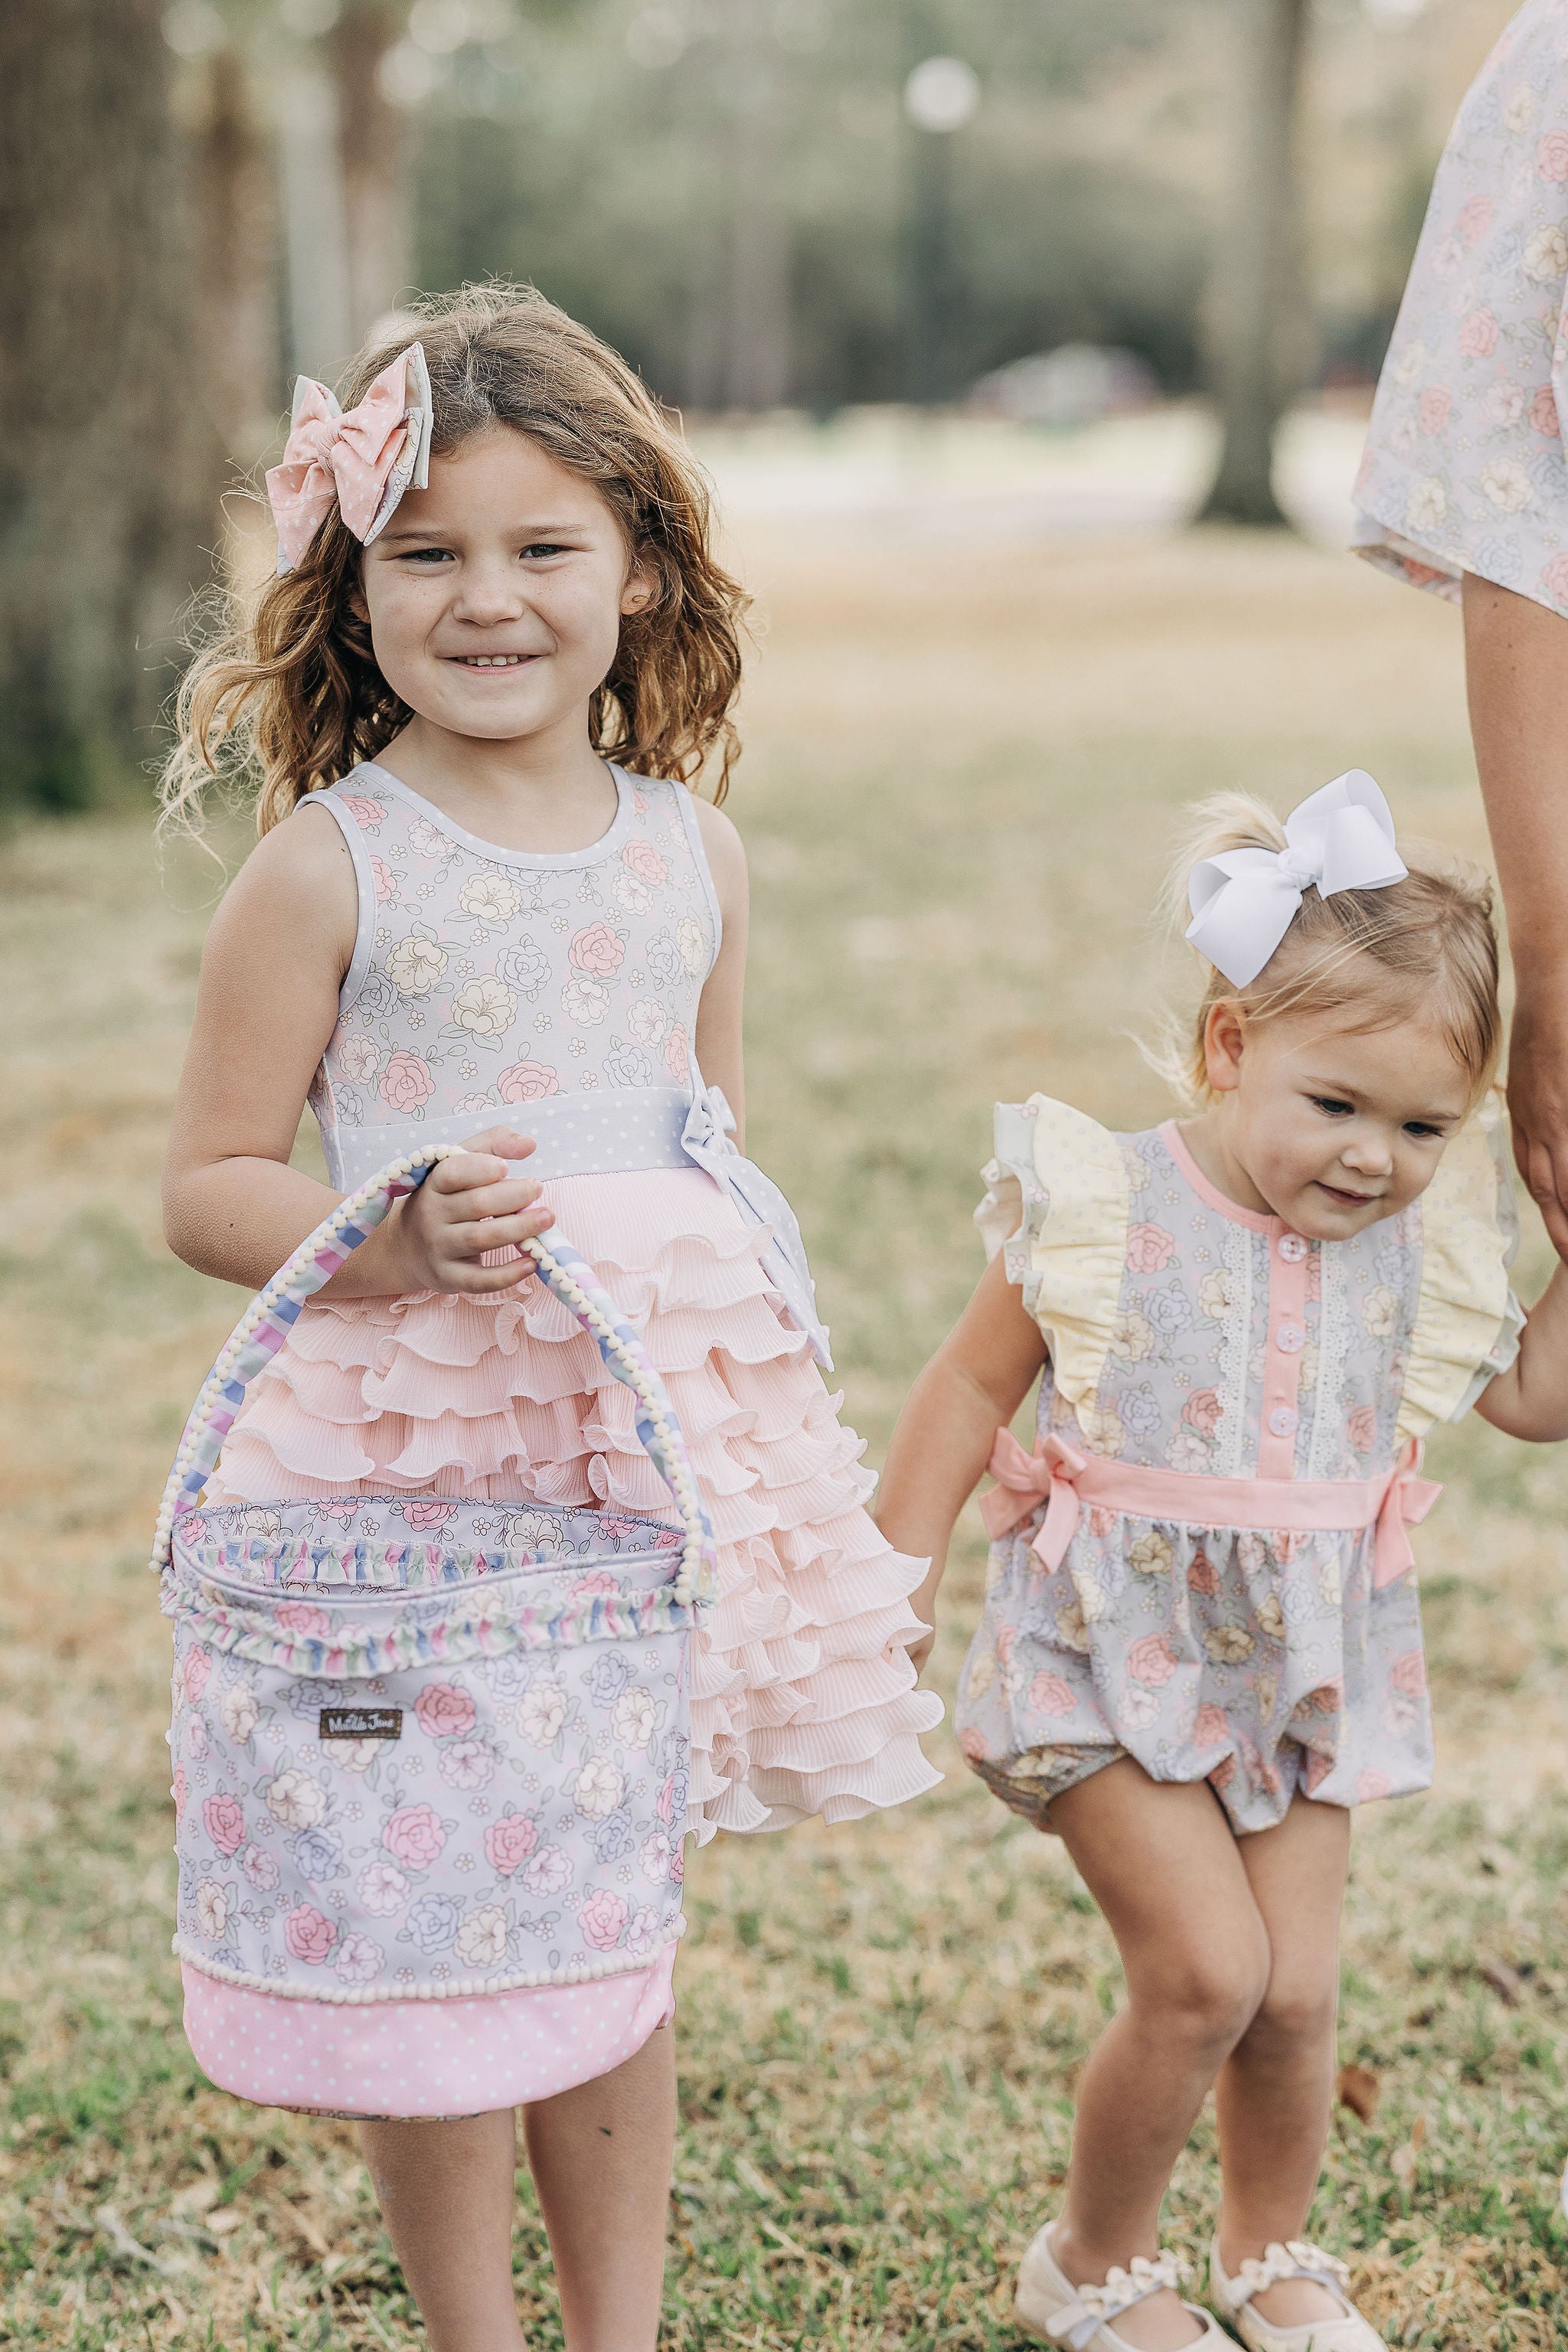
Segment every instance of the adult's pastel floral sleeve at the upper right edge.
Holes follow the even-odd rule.
[[[1356,480],[1352,546],[1458,600],[1568,614],[1568,0],[1530,0],[1432,186]]]

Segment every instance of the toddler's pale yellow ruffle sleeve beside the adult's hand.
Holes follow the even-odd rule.
[[[1519,1249],[1507,1124],[1488,1101],[1453,1138],[1420,1197],[1420,1298],[1399,1435],[1460,1421],[1519,1355],[1523,1310],[1509,1287]]]

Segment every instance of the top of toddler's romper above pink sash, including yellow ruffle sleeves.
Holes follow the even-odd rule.
[[[1175,1124],[1112,1136],[1044,1096],[997,1110],[978,1223],[1051,1362],[1041,1428],[1222,1479],[1366,1479],[1519,1352],[1500,1129],[1349,1242],[1227,1202]]]

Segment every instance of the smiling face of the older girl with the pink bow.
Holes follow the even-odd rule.
[[[376,666],[418,717],[510,741],[585,724],[649,600],[592,482],[508,426],[430,461],[364,550]]]

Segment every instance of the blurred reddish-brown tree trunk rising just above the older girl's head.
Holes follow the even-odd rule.
[[[348,235],[348,322],[362,343],[409,289],[404,118],[381,92],[381,59],[400,40],[407,7],[348,0],[331,33],[339,85],[339,162]]]

